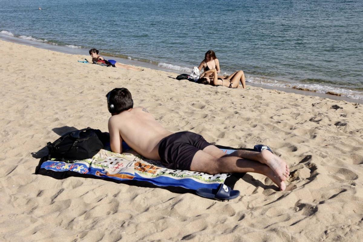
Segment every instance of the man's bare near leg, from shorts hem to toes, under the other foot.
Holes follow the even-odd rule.
[[[280,179],[280,177],[277,176],[277,174],[268,165],[262,164],[258,161],[241,159],[240,157],[231,155],[225,155],[221,158],[216,158],[204,152],[204,150],[198,151],[193,157],[190,169],[191,171],[206,172],[209,174],[233,172],[260,173],[262,175],[268,176],[273,182],[275,182],[280,190],[285,190],[285,182]]]

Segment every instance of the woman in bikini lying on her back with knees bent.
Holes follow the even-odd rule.
[[[212,85],[212,86],[225,86],[229,88],[239,88],[238,85],[240,82],[242,83],[242,87],[246,88],[245,82],[245,74],[243,71],[236,71],[229,77],[219,78],[217,75],[216,69],[211,69],[205,71],[201,77],[198,79],[198,82],[204,85]]]

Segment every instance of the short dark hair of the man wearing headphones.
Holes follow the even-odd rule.
[[[109,95],[110,97],[108,97]],[[113,111],[117,114],[134,107],[131,93],[126,88],[115,88],[107,93],[106,97],[108,97],[109,104],[113,104]]]

